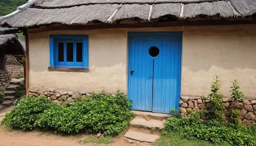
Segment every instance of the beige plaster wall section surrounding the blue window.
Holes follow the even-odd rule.
[[[48,71],[50,34],[89,35],[90,72]],[[30,89],[64,91],[126,91],[125,30],[54,31],[29,34]]]

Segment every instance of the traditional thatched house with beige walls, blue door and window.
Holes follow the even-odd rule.
[[[215,74],[225,96],[238,79],[256,98],[255,13],[254,0],[30,0],[0,23],[26,33],[31,95],[119,89],[134,110],[168,113]]]

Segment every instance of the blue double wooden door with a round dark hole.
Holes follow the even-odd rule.
[[[129,33],[128,96],[132,109],[169,113],[179,108],[181,39],[182,32]],[[155,58],[148,54],[151,46],[159,48]]]

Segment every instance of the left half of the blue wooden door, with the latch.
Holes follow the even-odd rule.
[[[152,111],[153,59],[147,54],[153,41],[150,37],[130,39],[128,96],[134,110]]]

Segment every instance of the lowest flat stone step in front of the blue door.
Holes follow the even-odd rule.
[[[131,130],[127,131],[124,134],[124,137],[137,140],[137,141],[142,141],[142,142],[155,142],[155,140],[159,138],[158,135],[145,134],[145,133],[135,132]]]

